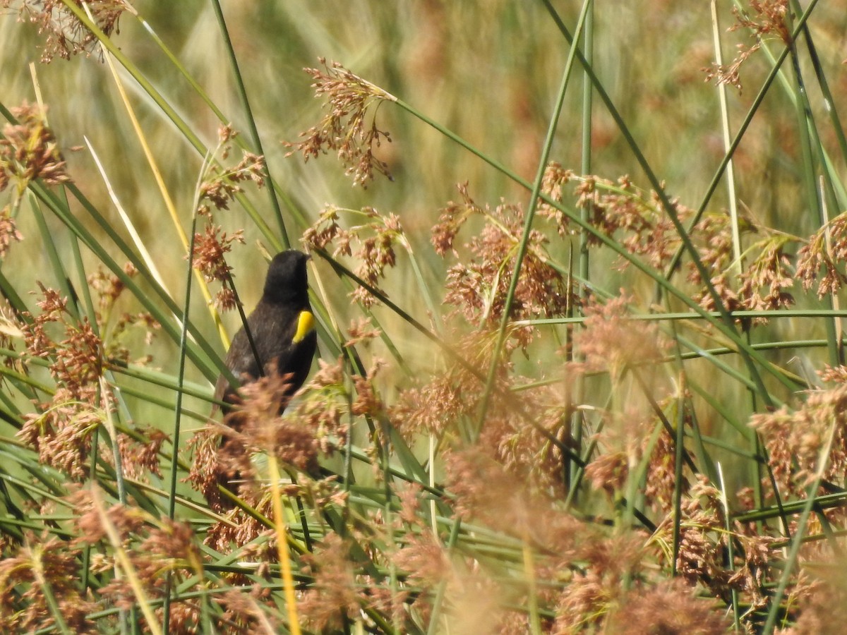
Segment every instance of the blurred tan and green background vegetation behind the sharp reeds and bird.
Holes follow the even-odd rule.
[[[573,28],[582,3],[561,0],[549,4],[555,7],[563,23]],[[750,47],[756,39],[750,29],[728,30],[736,24],[734,8],[749,9],[746,3],[717,5],[717,32],[724,60],[729,62],[739,45]],[[19,21],[22,14],[14,10],[16,6],[13,3],[13,7],[0,14],[0,102],[5,108],[12,108],[23,102],[35,102],[36,94],[40,94],[48,107],[49,125],[68,162],[68,173],[92,205],[126,238],[107,185],[86,147],[90,144],[103,163],[114,196],[125,207],[163,273],[165,286],[179,301],[185,294],[185,248],[171,225],[108,65],[102,62],[96,48],[87,57],[76,55],[70,60],[57,58],[50,64],[38,63],[44,47],[43,36],[35,25]],[[796,19],[809,3],[790,3],[790,6]],[[344,174],[331,154],[307,163],[298,155],[286,157],[289,148],[282,142],[298,141],[301,132],[315,125],[324,112],[323,102],[315,99],[311,80],[303,68],[318,66],[320,57],[337,61],[531,182],[538,170],[569,51],[545,3],[225,1],[221,7],[269,172],[291,201],[290,205],[284,202],[283,216],[292,246],[297,246],[303,231],[328,205],[349,209],[369,206],[379,213],[396,213],[422,266],[424,281],[434,290],[436,301],[440,301],[450,261],[436,256],[430,245],[430,229],[437,222],[440,209],[447,202],[458,200],[457,184],[467,181],[471,196],[492,206],[504,200],[525,207],[528,191],[407,109],[390,102],[380,106],[377,119],[380,130],[390,131],[391,143],[380,146],[377,153],[387,163],[393,181],[378,175],[367,188],[353,187],[352,179]],[[202,86],[224,114],[224,121],[248,139],[248,119],[239,101],[235,74],[213,3],[140,2],[135,9],[192,80]],[[787,19],[789,25],[790,21]],[[790,61],[785,64],[785,70],[756,108],[750,128],[734,154],[734,196],[745,224],[801,238],[808,237],[822,224],[817,207],[810,204],[810,197],[814,198],[810,174],[817,172],[804,154],[808,135],[805,117],[820,123],[818,149],[832,157],[829,174],[844,174],[839,124],[830,122],[833,112],[836,116],[847,116],[844,112],[847,12],[839,3],[820,3],[808,28],[816,45],[817,59],[805,54],[799,56],[796,68],[789,68]],[[720,88],[715,81],[706,81],[706,69],[711,68],[715,59],[710,3],[666,0],[602,3],[595,8],[590,31],[595,74],[628,125],[640,152],[653,173],[662,179],[668,196],[687,207],[698,207],[726,152],[718,101]],[[141,20],[124,14],[112,40],[205,146],[214,148],[222,122],[180,69],[163,55],[162,47]],[[762,50],[751,55],[740,70],[743,88],[727,87],[732,134],[753,105],[772,69],[772,58],[781,49],[778,36],[762,34]],[[596,95],[590,111],[590,152],[584,146],[584,92],[588,85],[580,70],[576,67],[564,100],[551,159],[578,174],[587,165],[590,174],[606,179],[628,175],[635,185],[650,190],[649,180],[634,158],[632,147]],[[125,69],[119,67],[118,72],[187,233],[204,157]],[[813,80],[816,75],[828,80],[832,102],[822,97],[819,82]],[[807,113],[796,105],[798,77],[808,80],[804,89],[810,105]],[[813,190],[817,185],[814,176],[811,182]],[[246,187],[245,196],[276,232],[275,221],[268,211],[268,192]],[[727,213],[728,201],[722,180],[707,202],[706,213]],[[838,201],[844,202],[841,196]],[[39,244],[42,229],[28,212],[28,205],[24,203],[17,218],[24,240],[12,246],[3,259],[2,269],[30,304],[31,298],[23,294],[36,291],[37,282],[56,286],[58,281],[53,279],[55,270],[47,251]],[[78,207],[72,204],[72,209]],[[844,207],[829,210],[830,218],[843,210]],[[80,218],[86,217],[80,213]],[[240,205],[218,213],[216,218],[228,233],[244,230],[246,245],[236,246],[228,262],[234,268],[241,299],[249,309],[261,293],[265,271],[257,241],[268,251],[274,248]],[[73,262],[73,251],[64,240],[61,224],[50,216],[45,220],[53,230],[59,257],[64,262]],[[469,233],[479,229],[481,221],[473,221],[471,226]],[[113,257],[123,262],[101,228],[91,224],[88,230],[102,240]],[[548,249],[557,262],[567,263],[577,245],[578,238],[574,237],[553,241]],[[82,256],[86,272],[91,273],[97,268],[97,257],[85,250]],[[405,255],[401,254],[399,259],[399,266],[387,274],[384,289],[392,301],[419,322],[429,324],[428,307],[418,293],[415,273]],[[632,268],[621,272],[615,267],[617,262],[617,256],[607,251],[593,252],[592,287],[601,296],[618,295],[625,287],[639,296],[643,306],[649,306],[655,281]],[[349,286],[336,279],[326,263],[318,259],[310,274],[318,277],[313,279],[313,288],[319,286],[319,294],[331,307],[337,323],[343,326],[358,317],[359,310],[348,297]],[[813,292],[807,294],[799,286],[794,295],[799,300],[798,306],[826,306]],[[215,351],[223,355],[225,345],[215,335],[213,320],[204,308],[205,301],[197,293],[192,299],[192,319]],[[123,311],[138,310],[132,306],[135,300],[129,295],[121,302]],[[376,306],[374,313],[390,334],[390,341],[401,349],[412,367],[412,376],[429,376],[437,370],[440,362],[433,355],[429,340],[385,306]],[[239,318],[230,312],[223,319],[231,336],[240,324]],[[774,320],[767,328],[754,330],[752,335],[755,341],[770,342],[825,337],[823,320],[804,317]],[[516,360],[518,367],[540,378],[556,376],[554,365],[561,358],[554,355],[556,346],[552,341],[542,339],[534,343],[529,359]],[[390,357],[379,341],[370,346],[368,358]],[[174,373],[179,350],[163,335],[158,335],[149,346],[144,344],[143,334],[130,335],[129,348],[134,357],[149,353],[153,367],[169,375]],[[335,356],[325,342],[320,350],[328,361]],[[811,369],[822,367],[823,362],[838,362],[824,345],[775,352],[771,359],[801,378],[810,378]],[[746,420],[754,406],[746,402],[747,390],[742,383],[729,381],[725,373],[715,372],[707,362],[695,362],[688,369],[689,373],[698,375],[706,391],[728,410],[737,408],[739,420]],[[388,373],[379,376],[380,389],[388,402],[397,391],[412,384],[411,378],[396,370],[390,367]],[[191,382],[199,384],[201,389],[208,388],[211,393],[208,382],[213,378],[208,373],[204,376],[200,368],[191,365],[186,373]],[[773,388],[783,400],[793,396],[784,387]],[[131,396],[128,399],[132,401]],[[23,408],[24,402],[18,395],[19,407]],[[133,409],[135,416],[149,421],[156,421],[168,412],[167,408],[153,406],[147,400],[140,400],[135,406],[138,408]],[[185,406],[201,414],[208,409],[208,404],[199,397],[186,399]],[[714,410],[706,409],[700,424],[706,433],[723,432],[722,418]],[[167,424],[164,428],[167,429]],[[8,427],[6,434],[12,433],[14,430]],[[735,433],[728,434],[725,441],[733,444]],[[724,456],[722,450],[715,451],[717,456]],[[725,459],[730,463],[735,460],[732,455]],[[734,478],[740,485],[745,479],[744,470]]]

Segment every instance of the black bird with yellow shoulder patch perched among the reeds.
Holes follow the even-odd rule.
[[[262,299],[247,317],[254,353],[244,327],[235,334],[226,366],[243,385],[268,373],[287,375],[285,396],[306,381],[318,345],[312,307],[309,306],[306,262],[302,251],[280,251],[271,260]],[[258,360],[256,358],[258,355]],[[236,404],[235,388],[223,374],[215,385],[215,399]],[[282,407],[285,402],[282,400]],[[230,408],[224,407],[224,413]]]

